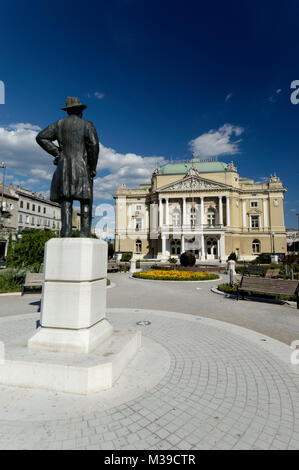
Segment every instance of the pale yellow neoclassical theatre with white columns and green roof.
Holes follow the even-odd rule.
[[[217,159],[169,163],[114,195],[116,253],[167,259],[190,250],[201,261],[286,253],[285,191],[276,175],[255,183]]]

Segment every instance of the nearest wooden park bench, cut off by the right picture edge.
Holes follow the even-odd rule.
[[[289,281],[285,279],[267,279],[250,276],[243,276],[240,285],[237,287],[237,300],[240,292],[252,291],[265,294],[294,295],[297,297],[297,308],[299,309],[299,281]],[[244,299],[244,294],[242,295]]]

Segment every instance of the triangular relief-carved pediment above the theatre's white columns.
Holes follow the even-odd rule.
[[[190,168],[182,180],[159,188],[159,192],[228,190],[230,186],[204,179],[195,168]]]

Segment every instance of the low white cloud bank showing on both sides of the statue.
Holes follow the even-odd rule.
[[[35,141],[39,130],[39,126],[24,123],[0,127],[0,161],[6,163],[7,177],[12,183],[40,192],[50,186],[55,167],[51,155]],[[138,187],[150,180],[157,165],[166,163],[164,157],[122,154],[100,144],[98,176],[94,182],[95,199],[111,199],[122,183]]]

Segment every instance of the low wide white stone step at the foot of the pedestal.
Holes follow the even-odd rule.
[[[76,394],[113,386],[141,347],[141,332],[113,334],[90,354],[50,352],[14,345],[0,363],[0,383]]]

